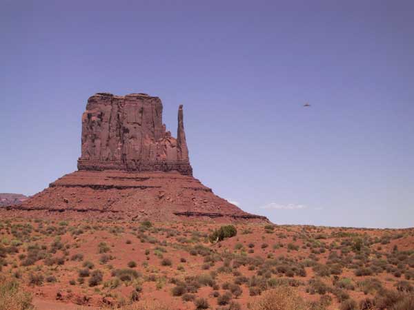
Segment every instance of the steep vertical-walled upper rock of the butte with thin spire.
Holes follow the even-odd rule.
[[[177,138],[162,123],[162,103],[147,94],[91,96],[82,116],[79,170],[117,169],[192,175],[182,105]]]

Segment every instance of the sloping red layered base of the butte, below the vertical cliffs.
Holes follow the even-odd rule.
[[[178,172],[77,171],[13,208],[70,218],[266,220],[216,196],[193,176]]]

